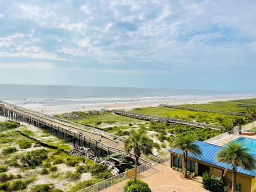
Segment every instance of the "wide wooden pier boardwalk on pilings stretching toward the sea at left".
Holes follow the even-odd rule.
[[[114,134],[38,113],[37,111],[18,107],[3,101],[0,101],[0,116],[9,117],[17,122],[35,125],[57,137],[65,139],[65,141],[73,141],[74,147],[89,146],[94,153],[97,150],[101,150],[101,153],[105,151],[107,154],[124,152],[124,139]],[[134,158],[133,154],[127,155]],[[144,158],[140,158],[139,161],[140,163],[148,162]]]

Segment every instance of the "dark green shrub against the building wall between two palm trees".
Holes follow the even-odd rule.
[[[212,192],[224,192],[223,181],[211,177],[207,172],[203,174],[203,187]]]

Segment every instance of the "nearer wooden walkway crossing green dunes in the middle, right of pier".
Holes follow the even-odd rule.
[[[121,111],[121,110],[114,110],[114,113],[118,114],[118,115],[124,115],[124,116],[128,116],[128,117],[145,119],[145,120],[155,121],[155,122],[170,122],[170,123],[179,123],[179,124],[183,124],[183,125],[196,126],[199,128],[209,127],[211,129],[222,129],[222,126],[218,126],[218,125],[198,123],[198,122],[187,121],[187,120],[182,120],[182,119],[158,117],[158,116],[153,116],[153,115],[145,115],[145,114],[133,113],[133,112],[127,112],[127,111]]]

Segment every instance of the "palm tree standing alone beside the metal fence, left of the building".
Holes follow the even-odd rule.
[[[152,150],[151,142],[149,138],[138,132],[133,132],[129,138],[124,141],[124,148],[127,153],[131,151],[135,155],[135,173],[134,173],[134,183],[137,180],[137,166],[141,153],[149,154]]]

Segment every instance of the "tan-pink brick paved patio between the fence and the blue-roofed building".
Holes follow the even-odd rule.
[[[150,170],[140,173],[138,179],[148,183],[152,192],[207,192],[203,188],[202,178],[181,179],[180,172],[174,171],[169,162],[155,165]],[[109,187],[102,192],[121,192],[127,180]],[[209,192],[209,191],[208,191]]]

